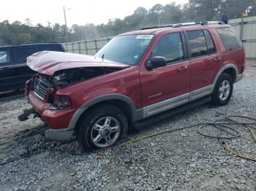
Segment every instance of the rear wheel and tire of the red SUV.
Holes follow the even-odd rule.
[[[215,106],[224,106],[230,101],[233,93],[233,79],[229,74],[221,74],[217,80],[214,91],[211,94]]]

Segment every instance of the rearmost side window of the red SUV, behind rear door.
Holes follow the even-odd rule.
[[[217,32],[226,50],[234,50],[242,47],[241,40],[233,28],[217,28]]]

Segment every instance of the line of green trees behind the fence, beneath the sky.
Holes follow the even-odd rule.
[[[189,0],[188,4],[155,4],[151,9],[138,7],[132,15],[124,19],[108,20],[107,24],[84,26],[73,25],[67,28],[59,23],[33,26],[29,19],[24,23],[4,20],[0,23],[0,46],[29,42],[72,42],[115,36],[126,31],[138,30],[146,26],[192,21],[220,20],[222,14],[229,19],[256,15],[256,0]]]

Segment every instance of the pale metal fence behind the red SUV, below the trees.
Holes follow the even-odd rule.
[[[233,19],[229,20],[229,24],[233,26],[238,36],[240,36],[246,50],[246,58],[256,60],[256,17],[243,18],[243,24],[241,24],[241,21],[241,18]],[[79,42],[67,42],[63,45],[67,52],[94,55],[112,38],[113,36]]]

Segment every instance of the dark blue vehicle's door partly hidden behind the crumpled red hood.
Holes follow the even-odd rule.
[[[26,80],[30,79],[35,74],[35,71],[29,69],[29,66],[26,65],[26,58],[34,54],[34,52],[39,51],[39,47],[37,46],[15,47],[15,63],[13,64],[12,74],[13,80],[17,83],[18,88],[24,87]]]

